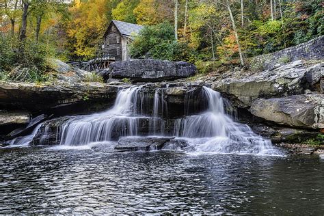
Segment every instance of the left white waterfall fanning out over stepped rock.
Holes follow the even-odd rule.
[[[139,90],[142,86],[133,86],[118,92],[116,102],[111,109],[103,113],[72,118],[62,126],[61,145],[81,146],[97,141],[108,141],[113,131],[118,136],[137,135],[141,116],[137,111]]]

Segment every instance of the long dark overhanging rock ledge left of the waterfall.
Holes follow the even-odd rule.
[[[65,83],[46,85],[0,81],[0,108],[46,111],[55,107],[94,101],[113,103],[118,86],[105,83]]]

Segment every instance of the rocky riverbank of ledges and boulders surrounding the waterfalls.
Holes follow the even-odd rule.
[[[129,62],[127,70],[137,70],[137,68],[142,70],[147,67],[150,76],[140,78],[137,74],[134,80],[132,77],[111,79],[109,76],[113,70],[108,70],[101,73],[107,83],[87,82],[82,76],[80,77],[80,75],[84,77],[87,72],[80,72],[78,68],[71,68],[57,61],[56,71],[59,79],[56,81],[1,82],[2,139],[16,137],[16,130],[18,135],[25,134],[25,129],[30,132],[36,126],[33,124],[32,127],[28,127],[31,119],[40,114],[46,115],[41,122],[51,122],[49,128],[52,127],[52,131],[57,131],[60,122],[67,120],[64,116],[105,111],[115,103],[120,90],[133,85],[140,86],[141,97],[146,98],[148,107],[145,109],[141,107],[144,113],[151,115],[155,103],[172,107],[172,109],[163,108],[164,114],[163,111],[157,113],[163,121],[167,122],[167,129],[172,131],[174,130],[172,125],[177,118],[200,113],[206,109],[204,105],[206,98],[200,92],[203,86],[208,86],[226,98],[226,112],[235,120],[248,124],[254,133],[271,139],[273,144],[288,149],[292,154],[322,154],[323,61],[297,60],[276,64],[262,71],[233,68],[174,81],[160,81],[160,79],[163,79],[161,78],[163,75],[169,78],[188,77],[195,73],[193,66],[163,62],[163,68],[157,72],[157,66],[160,65],[158,60],[148,62],[141,60],[140,63]],[[183,66],[190,68],[190,72],[183,74],[182,71],[185,70]],[[124,73],[122,68],[118,68],[113,75]],[[174,68],[172,72],[169,71],[170,68]],[[164,70],[169,73],[163,72]],[[156,79],[155,76],[159,78]],[[141,79],[152,80],[140,83]],[[145,122],[146,120],[143,119],[141,128],[150,131],[150,125]]]

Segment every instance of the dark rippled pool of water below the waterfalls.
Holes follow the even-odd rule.
[[[185,152],[0,149],[0,213],[324,214],[324,161]]]

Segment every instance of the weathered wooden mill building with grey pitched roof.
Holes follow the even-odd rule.
[[[129,60],[128,45],[142,28],[143,26],[133,23],[111,21],[104,35],[103,57],[116,61]]]

